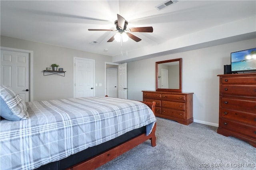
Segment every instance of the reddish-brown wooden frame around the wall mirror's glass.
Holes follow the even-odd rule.
[[[170,62],[175,62],[179,61],[179,68],[180,68],[180,83],[179,83],[179,89],[170,89],[170,88],[158,88],[158,64],[162,63],[170,63]],[[179,59],[172,59],[172,60],[165,60],[165,61],[158,61],[156,62],[156,91],[171,91],[171,92],[182,92],[182,58]]]

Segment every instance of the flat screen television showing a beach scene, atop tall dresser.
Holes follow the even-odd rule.
[[[231,72],[256,70],[256,48],[231,53]]]

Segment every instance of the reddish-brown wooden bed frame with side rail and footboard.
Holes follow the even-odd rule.
[[[108,97],[108,96],[106,96]],[[155,114],[155,106],[156,102],[142,102],[146,104],[148,107],[150,107]],[[152,147],[156,146],[156,123],[153,127],[152,132],[146,136],[146,134],[138,135],[137,137],[134,137],[124,143],[121,143],[120,145],[117,145],[116,147],[113,147],[112,149],[106,150],[105,152],[102,152],[101,154],[98,154],[92,158],[89,158],[83,162],[80,162],[79,164],[76,164],[74,166],[71,166],[67,168],[66,170],[93,170],[96,169],[103,164],[106,164],[110,160],[120,156],[124,152],[127,152],[128,150],[133,149],[134,147],[140,145],[141,143],[144,143],[148,139],[151,140]]]

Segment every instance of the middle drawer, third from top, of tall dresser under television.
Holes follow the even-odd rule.
[[[256,101],[253,101],[253,100],[220,98],[220,106],[224,109],[232,109],[232,110],[256,113]]]

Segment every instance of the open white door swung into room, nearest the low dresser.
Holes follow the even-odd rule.
[[[127,64],[118,65],[118,98],[127,98]]]

